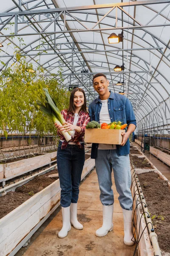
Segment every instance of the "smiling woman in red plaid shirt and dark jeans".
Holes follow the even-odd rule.
[[[65,124],[55,124],[60,137],[57,150],[57,168],[61,187],[62,230],[58,237],[64,238],[71,229],[83,229],[77,220],[77,201],[79,197],[79,183],[85,162],[84,134],[85,126],[90,122],[86,111],[85,92],[75,88],[71,92],[68,110],[62,110]],[[61,131],[74,131],[72,139],[67,142]]]

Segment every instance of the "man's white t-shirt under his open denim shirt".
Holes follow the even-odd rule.
[[[108,100],[104,99],[100,101],[102,102],[102,108],[99,115],[100,125],[104,122],[109,124],[111,122],[111,119],[108,111]],[[116,145],[99,143],[98,149],[116,149]]]

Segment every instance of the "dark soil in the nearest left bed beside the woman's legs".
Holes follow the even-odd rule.
[[[37,176],[34,180],[18,187],[15,192],[8,192],[6,195],[0,196],[0,218],[3,218],[34,194],[53,183],[56,179],[47,176],[56,172],[57,169],[55,168],[53,171]]]

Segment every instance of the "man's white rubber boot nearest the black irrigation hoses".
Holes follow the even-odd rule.
[[[123,220],[124,220],[124,244],[127,246],[132,246],[134,242],[131,240],[133,238],[132,234],[132,211],[123,210]]]

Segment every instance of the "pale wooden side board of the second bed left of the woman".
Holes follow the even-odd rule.
[[[26,158],[23,160],[15,160],[11,163],[1,163],[0,164],[0,182],[3,182],[5,186],[5,181],[22,175],[26,172],[31,172],[42,166],[51,164],[57,155],[57,151],[53,153],[42,154],[37,157]]]

